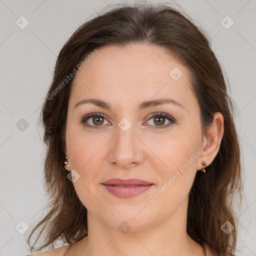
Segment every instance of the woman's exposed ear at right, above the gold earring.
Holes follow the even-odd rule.
[[[214,113],[214,120],[212,126],[208,129],[207,134],[203,135],[201,146],[201,155],[198,160],[197,169],[210,165],[218,153],[220,142],[224,133],[224,119],[220,112]],[[201,164],[202,161],[206,162],[206,166]]]

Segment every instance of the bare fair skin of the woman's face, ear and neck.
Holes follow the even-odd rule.
[[[75,75],[68,102],[65,153],[70,166],[66,169],[80,175],[73,185],[87,209],[88,236],[64,255],[205,255],[186,233],[188,193],[196,171],[204,167],[202,161],[209,165],[219,150],[223,116],[215,113],[211,129],[203,134],[189,70],[164,48],[130,44],[98,50]],[[169,75],[174,67],[182,71],[177,80]],[[106,101],[111,109],[92,103],[74,108],[88,98]],[[174,99],[182,106],[165,103],[137,108],[142,101],[160,98]],[[89,117],[86,123],[98,128],[80,122],[95,112],[104,115],[102,122]],[[151,117],[158,112],[175,121]],[[126,131],[118,126],[123,118],[131,124]],[[166,185],[184,163],[189,166]],[[143,179],[153,186],[121,198],[102,185],[116,177]],[[165,190],[155,198],[164,184]],[[118,227],[123,221],[130,226],[126,233]]]

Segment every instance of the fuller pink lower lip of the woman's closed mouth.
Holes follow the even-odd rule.
[[[116,185],[105,185],[103,186],[113,195],[128,198],[138,195],[148,190],[153,184],[150,185],[137,185],[137,186],[116,186]]]

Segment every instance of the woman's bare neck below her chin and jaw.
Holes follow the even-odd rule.
[[[88,236],[83,239],[80,254],[141,256],[142,253],[157,256],[203,256],[203,247],[186,233],[185,208],[187,201],[166,219],[140,230],[133,230],[131,226],[126,233],[107,225],[88,211]]]

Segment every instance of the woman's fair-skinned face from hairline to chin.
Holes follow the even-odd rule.
[[[79,176],[73,185],[88,216],[113,228],[126,221],[139,230],[157,225],[187,203],[203,142],[199,105],[188,75],[164,48],[146,44],[99,48],[75,75],[65,153],[67,169]],[[109,109],[88,102],[75,107],[90,98],[106,102]],[[170,102],[140,105],[162,98]],[[152,185],[120,197],[102,184],[112,178],[142,179]],[[125,189],[131,191],[118,191]]]

